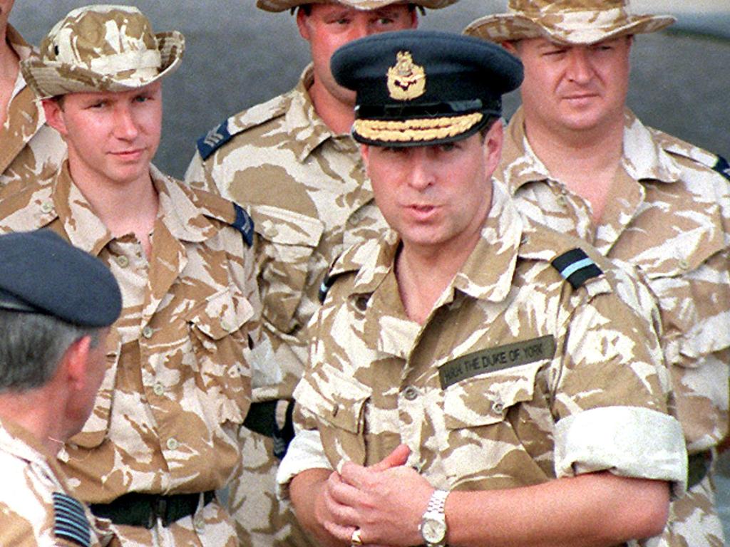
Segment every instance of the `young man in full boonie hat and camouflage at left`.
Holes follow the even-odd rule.
[[[237,545],[215,490],[239,468],[250,403],[253,233],[242,209],[150,163],[162,79],[184,44],[134,7],[66,15],[22,69],[68,161],[50,184],[0,203],[0,230],[51,228],[119,281],[124,306],[93,413],[59,460],[122,546]]]

